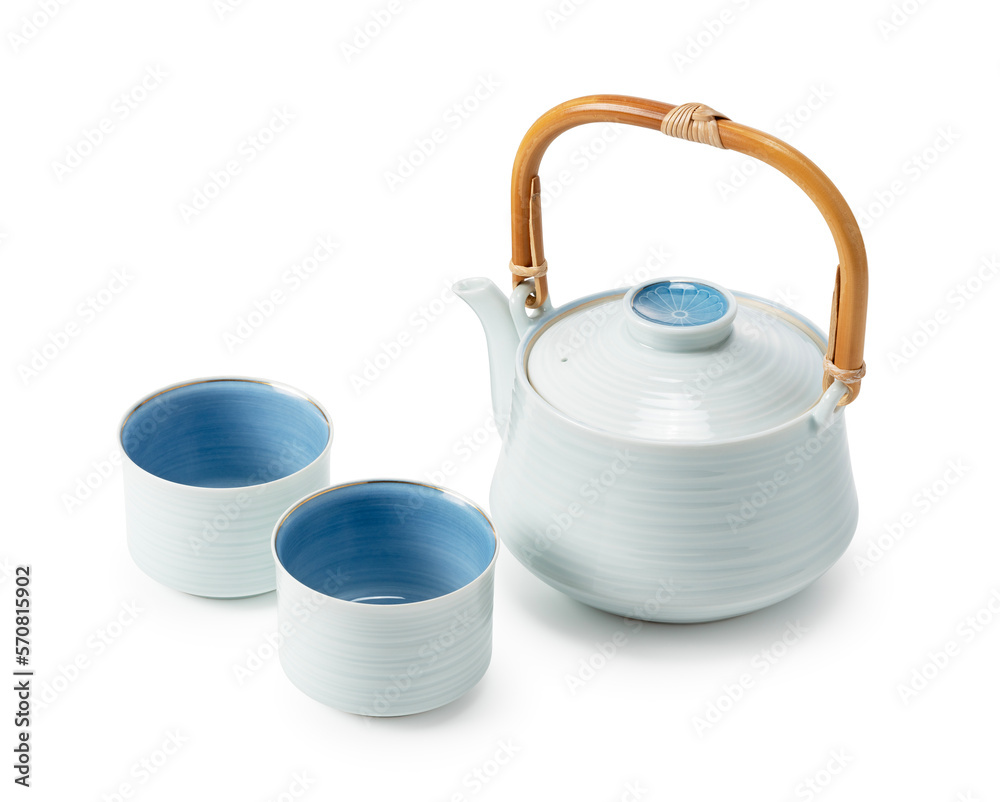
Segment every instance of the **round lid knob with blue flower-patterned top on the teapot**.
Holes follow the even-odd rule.
[[[663,351],[695,351],[726,340],[737,302],[725,287],[701,279],[654,279],[625,294],[629,334]]]

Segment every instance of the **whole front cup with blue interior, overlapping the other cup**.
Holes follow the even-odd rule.
[[[281,664],[309,696],[407,715],[486,672],[497,540],[470,501],[414,482],[341,485],[292,508],[273,542],[279,627],[294,629]]]

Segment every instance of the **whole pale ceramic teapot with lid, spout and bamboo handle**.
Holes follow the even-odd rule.
[[[839,266],[829,343],[795,311],[679,276],[554,308],[538,168],[563,131],[617,122],[754,156],[819,208]],[[791,596],[857,526],[844,408],[864,375],[867,265],[836,187],[794,148],[699,104],[564,103],[521,143],[511,185],[513,293],[456,293],[486,330],[503,447],[490,491],[517,559],[586,604],[708,621]]]

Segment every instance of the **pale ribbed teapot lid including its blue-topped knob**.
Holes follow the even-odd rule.
[[[524,365],[545,401],[588,427],[703,443],[812,407],[825,350],[823,334],[780,304],[671,278],[556,310],[529,339]]]

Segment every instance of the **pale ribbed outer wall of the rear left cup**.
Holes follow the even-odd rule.
[[[168,482],[122,460],[132,559],[167,587],[235,598],[274,590],[271,533],[282,513],[329,482],[330,452],[291,476],[251,487]]]

